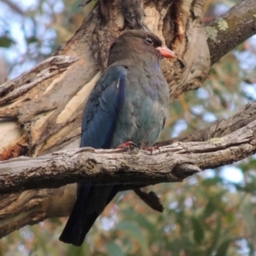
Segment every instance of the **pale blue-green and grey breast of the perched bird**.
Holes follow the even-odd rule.
[[[125,102],[113,133],[113,147],[127,141],[137,143],[141,148],[154,144],[168,109],[169,90],[161,73],[153,68],[128,70]]]

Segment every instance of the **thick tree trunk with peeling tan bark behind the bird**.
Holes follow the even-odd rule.
[[[52,59],[1,86],[0,134],[12,132],[4,138],[0,160],[79,146],[84,103],[106,64],[109,45],[125,29],[149,29],[176,52],[177,61],[162,63],[171,101],[198,88],[210,69],[203,4],[203,0],[99,1]],[[56,65],[60,55],[72,61],[65,67],[63,61]]]

